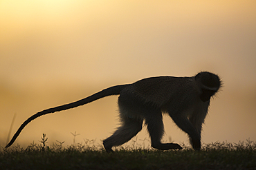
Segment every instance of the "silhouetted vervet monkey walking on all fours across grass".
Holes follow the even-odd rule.
[[[164,134],[163,113],[169,114],[174,123],[188,134],[192,147],[200,150],[201,129],[208,113],[210,98],[220,87],[219,76],[210,72],[199,72],[192,77],[150,77],[132,84],[116,85],[74,103],[34,114],[19,127],[6,148],[15,142],[21,130],[31,120],[39,116],[85,105],[105,96],[120,95],[118,107],[122,124],[112,136],[103,140],[107,152],[112,152],[112,147],[122,145],[136,136],[142,129],[144,120],[152,147],[162,150],[182,149],[176,143],[161,142]]]

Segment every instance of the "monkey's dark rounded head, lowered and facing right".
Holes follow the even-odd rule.
[[[200,98],[203,102],[210,100],[216,92],[218,92],[221,87],[221,80],[216,74],[210,72],[199,72],[194,77],[196,84],[201,89]]]

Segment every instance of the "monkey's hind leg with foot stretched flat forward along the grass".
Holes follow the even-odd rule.
[[[152,147],[155,149],[168,150],[168,149],[182,149],[179,144],[176,143],[162,143],[161,138],[163,137],[163,115],[161,111],[155,111],[146,117],[147,130],[151,138]]]

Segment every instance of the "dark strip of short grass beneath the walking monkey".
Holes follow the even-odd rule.
[[[47,146],[19,145],[0,152],[0,169],[256,169],[256,142],[247,140],[231,144],[214,142],[201,151],[184,147],[180,151],[158,151],[132,146],[118,147],[107,153],[93,140],[85,144],[62,147],[63,142]]]

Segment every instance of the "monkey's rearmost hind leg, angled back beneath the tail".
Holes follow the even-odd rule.
[[[113,152],[112,147],[128,142],[142,129],[143,120],[139,118],[129,118],[127,115],[120,113],[120,120],[121,126],[112,136],[103,140],[107,152]]]

